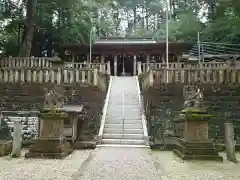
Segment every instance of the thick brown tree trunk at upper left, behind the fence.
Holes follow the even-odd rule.
[[[24,38],[20,48],[20,57],[29,57],[31,55],[34,26],[36,21],[36,0],[27,1],[27,23],[24,30]]]

